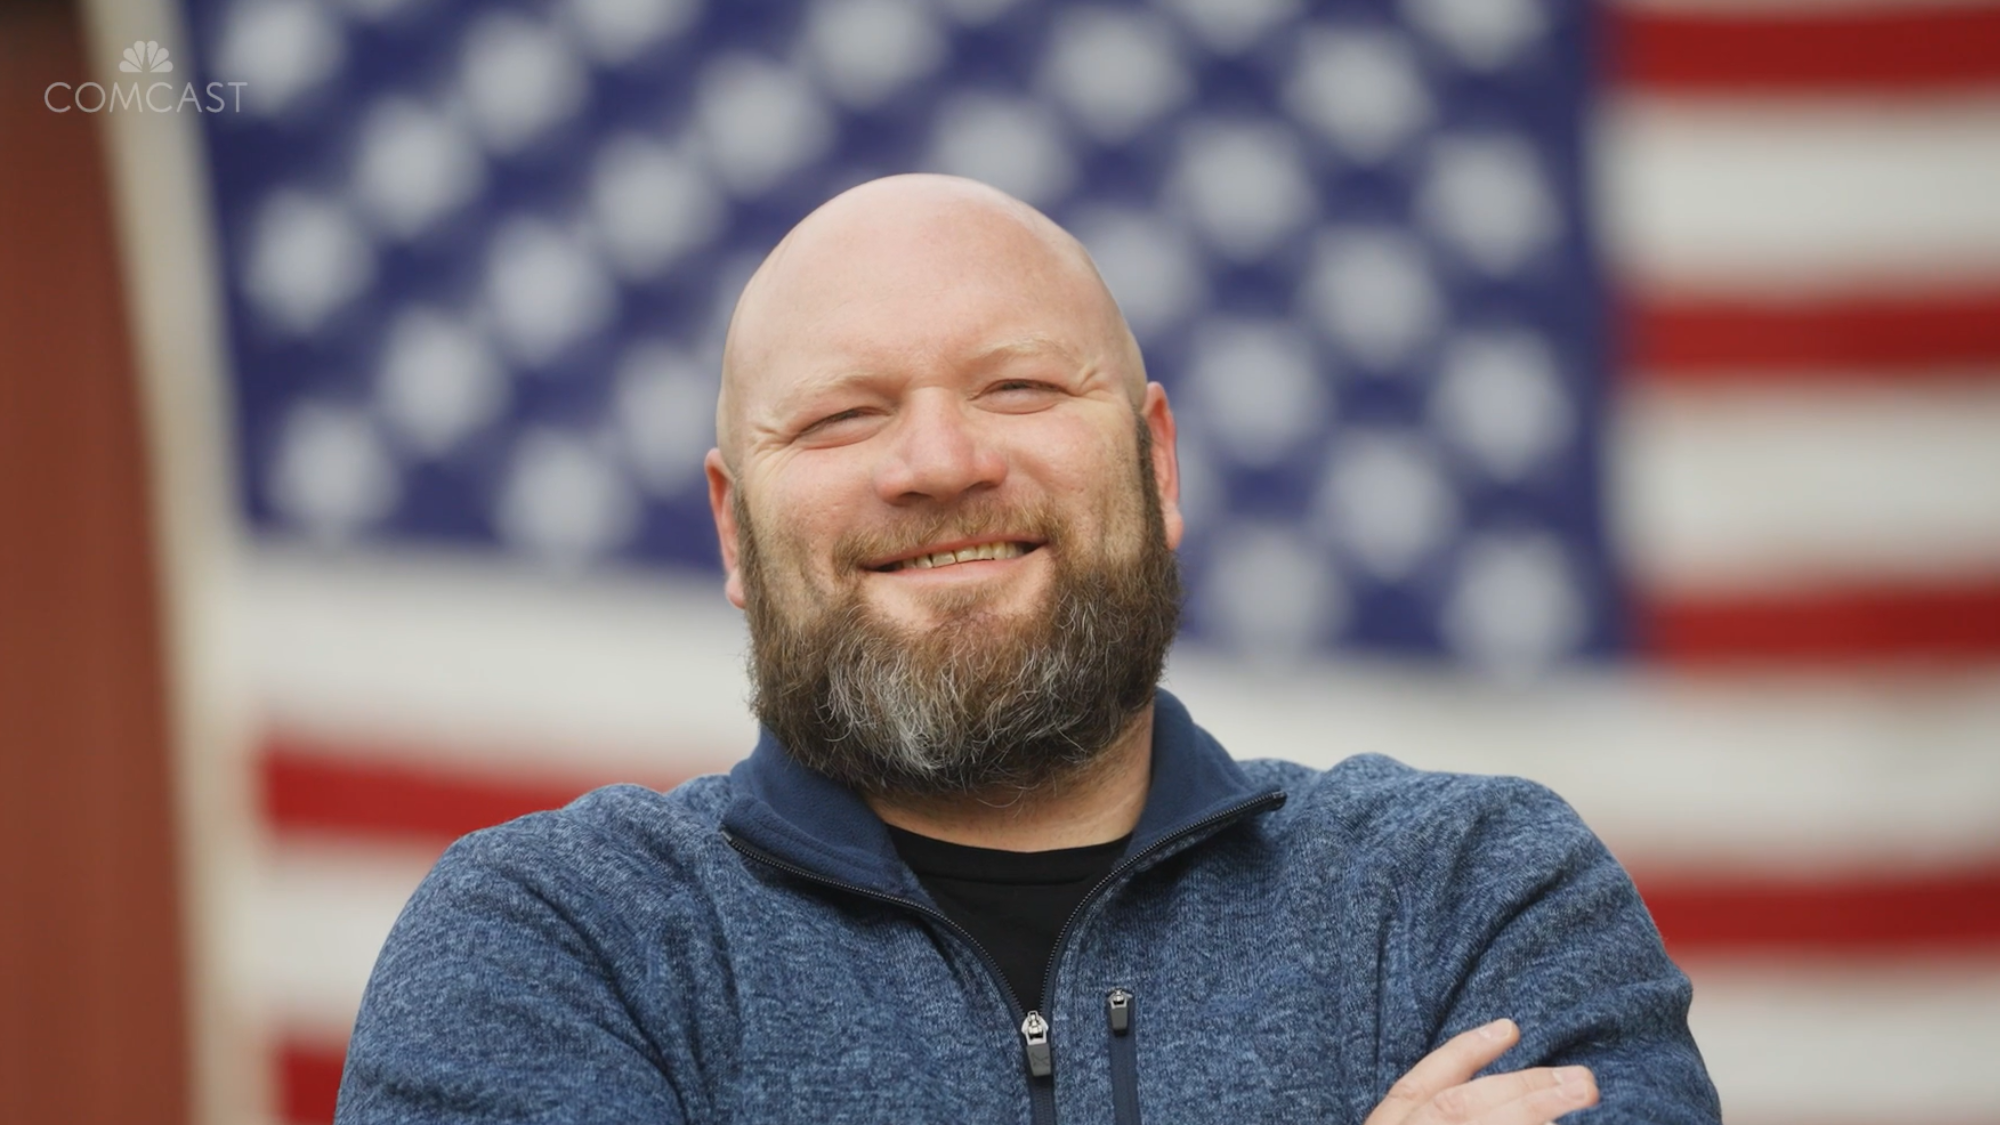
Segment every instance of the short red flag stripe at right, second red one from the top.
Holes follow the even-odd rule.
[[[1670,382],[2000,376],[2000,284],[1824,300],[1650,294],[1624,316],[1626,370]]]

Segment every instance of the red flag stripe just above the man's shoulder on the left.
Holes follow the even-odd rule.
[[[332,831],[450,843],[466,833],[542,809],[560,809],[614,777],[518,777],[452,771],[398,747],[330,747],[278,737],[264,745],[266,819],[288,831]],[[560,755],[550,755],[560,761]],[[672,789],[682,777],[644,779]]]

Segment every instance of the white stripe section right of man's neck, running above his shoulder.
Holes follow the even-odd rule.
[[[2000,675],[1570,675],[1510,689],[1178,653],[1238,757],[1358,753],[1552,787],[1618,857],[1676,871],[1908,871],[2000,855]]]

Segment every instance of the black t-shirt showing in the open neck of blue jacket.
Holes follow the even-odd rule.
[[[954,845],[890,827],[896,851],[936,899],[944,917],[966,927],[1000,961],[1014,995],[1042,1009],[1042,973],[1062,923],[1110,875],[1132,837],[1056,851],[998,851]]]

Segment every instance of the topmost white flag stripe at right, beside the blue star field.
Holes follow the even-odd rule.
[[[1622,98],[1594,136],[1622,272],[1702,294],[2000,276],[2000,98]]]

